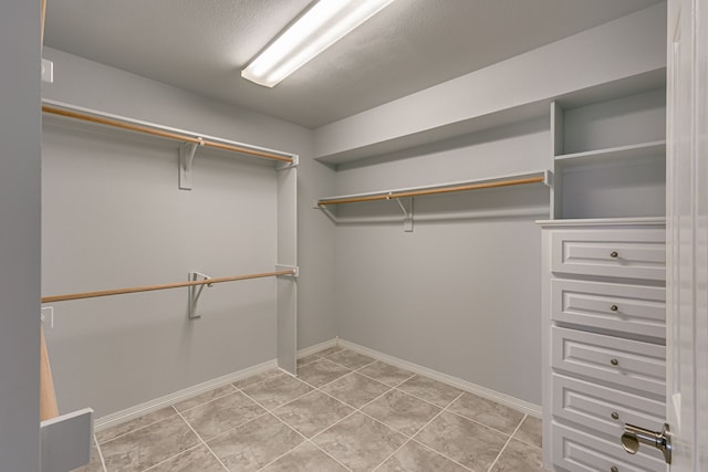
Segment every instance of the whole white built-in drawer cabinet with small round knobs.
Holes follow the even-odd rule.
[[[543,459],[554,471],[666,471],[624,424],[666,415],[662,218],[551,220],[543,232]]]

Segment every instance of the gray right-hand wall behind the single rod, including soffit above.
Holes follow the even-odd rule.
[[[665,24],[666,4],[659,3],[323,126],[314,133],[315,156],[375,156],[341,165],[336,195],[552,169],[548,112],[437,144],[420,145],[419,137],[461,129],[504,107],[541,104],[548,111],[551,99],[581,88],[660,74]],[[648,102],[653,123],[662,113],[653,107],[657,96],[641,99]],[[571,127],[589,120],[583,114],[592,111],[571,113]],[[597,123],[598,129],[606,124]],[[408,141],[415,147],[377,156]],[[413,233],[388,222],[400,219],[393,202],[337,211],[348,221],[337,227],[336,238],[342,338],[541,403],[541,248],[534,220],[549,217],[546,188],[417,198]]]

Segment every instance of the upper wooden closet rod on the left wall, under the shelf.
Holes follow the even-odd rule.
[[[144,134],[148,134],[148,135],[153,135],[153,136],[159,136],[159,137],[163,137],[163,138],[176,139],[176,140],[180,140],[180,141],[187,141],[187,143],[194,143],[194,144],[198,144],[198,145],[204,145],[206,147],[212,147],[212,148],[216,148],[216,149],[230,150],[230,151],[239,153],[239,154],[247,154],[247,155],[250,155],[250,156],[262,157],[262,158],[266,158],[266,159],[282,160],[282,161],[285,161],[285,162],[293,162],[294,161],[294,159],[292,157],[279,156],[277,154],[266,153],[266,151],[262,151],[262,150],[249,149],[249,148],[246,148],[246,147],[233,146],[233,145],[230,145],[230,144],[218,143],[218,141],[208,140],[208,139],[201,139],[201,138],[197,138],[197,137],[189,136],[189,135],[166,132],[166,130],[163,130],[163,129],[150,128],[150,127],[142,126],[142,125],[134,125],[134,124],[131,124],[131,123],[119,122],[117,119],[110,119],[110,118],[104,118],[104,117],[101,117],[101,116],[87,115],[87,114],[84,114],[84,113],[72,112],[72,111],[69,111],[69,109],[56,108],[56,107],[48,106],[48,105],[42,105],[42,112],[50,113],[50,114],[53,114],[53,115],[65,116],[67,118],[82,119],[84,122],[97,123],[100,125],[114,126],[116,128],[128,129],[128,130],[132,130],[132,132],[144,133]]]

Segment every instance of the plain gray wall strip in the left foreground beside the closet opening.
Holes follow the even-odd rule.
[[[40,2],[0,3],[0,471],[39,471]]]

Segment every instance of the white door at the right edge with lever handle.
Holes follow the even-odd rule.
[[[708,0],[668,1],[667,422],[671,472],[708,471]]]

